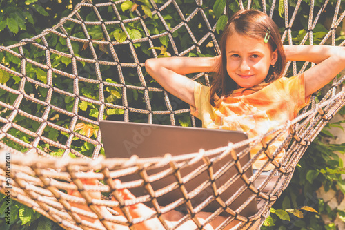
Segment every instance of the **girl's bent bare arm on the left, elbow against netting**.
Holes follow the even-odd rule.
[[[189,105],[195,106],[195,81],[184,76],[195,72],[215,72],[219,56],[216,57],[170,57],[148,59],[146,71],[170,94]]]

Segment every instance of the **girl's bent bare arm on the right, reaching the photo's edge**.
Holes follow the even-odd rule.
[[[310,61],[314,67],[304,72],[305,94],[310,96],[345,68],[345,47],[330,45],[284,45],[287,61]]]

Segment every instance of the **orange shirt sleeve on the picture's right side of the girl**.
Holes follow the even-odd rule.
[[[288,91],[288,94],[290,94],[290,97],[293,99],[293,101],[295,101],[294,116],[297,116],[299,110],[308,105],[310,98],[310,96],[306,98],[304,74],[288,78],[284,87]]]

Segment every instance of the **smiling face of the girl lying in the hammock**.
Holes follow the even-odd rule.
[[[277,58],[277,50],[272,52],[264,39],[233,34],[226,40],[226,70],[237,88],[262,83]]]

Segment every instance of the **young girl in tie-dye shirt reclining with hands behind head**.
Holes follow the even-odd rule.
[[[224,28],[219,47],[221,55],[212,58],[148,59],[146,70],[166,91],[188,103],[192,114],[201,119],[203,127],[241,130],[249,137],[269,132],[295,118],[308,103],[311,94],[345,67],[343,47],[283,46],[277,25],[257,10],[239,11],[231,17]],[[317,65],[304,74],[285,78],[282,74],[286,61],[310,61]],[[215,72],[211,86],[206,87],[184,76],[195,72]],[[271,153],[286,135],[275,140]],[[259,148],[253,149],[252,154]],[[279,161],[283,155],[284,152],[278,153],[275,160]],[[253,169],[260,169],[266,160],[265,154],[259,156]],[[265,170],[270,169],[273,169],[273,165],[267,165]],[[124,190],[124,198],[131,196],[128,190]],[[130,210],[135,217],[147,216],[152,211],[143,204],[135,205]],[[177,211],[172,212],[164,217],[170,222],[182,215]],[[197,218],[202,222],[207,216],[208,213],[199,213]],[[219,216],[206,228],[213,229],[223,220],[224,217]],[[191,220],[185,224],[181,229],[196,227]],[[137,227],[163,229],[157,218]]]

